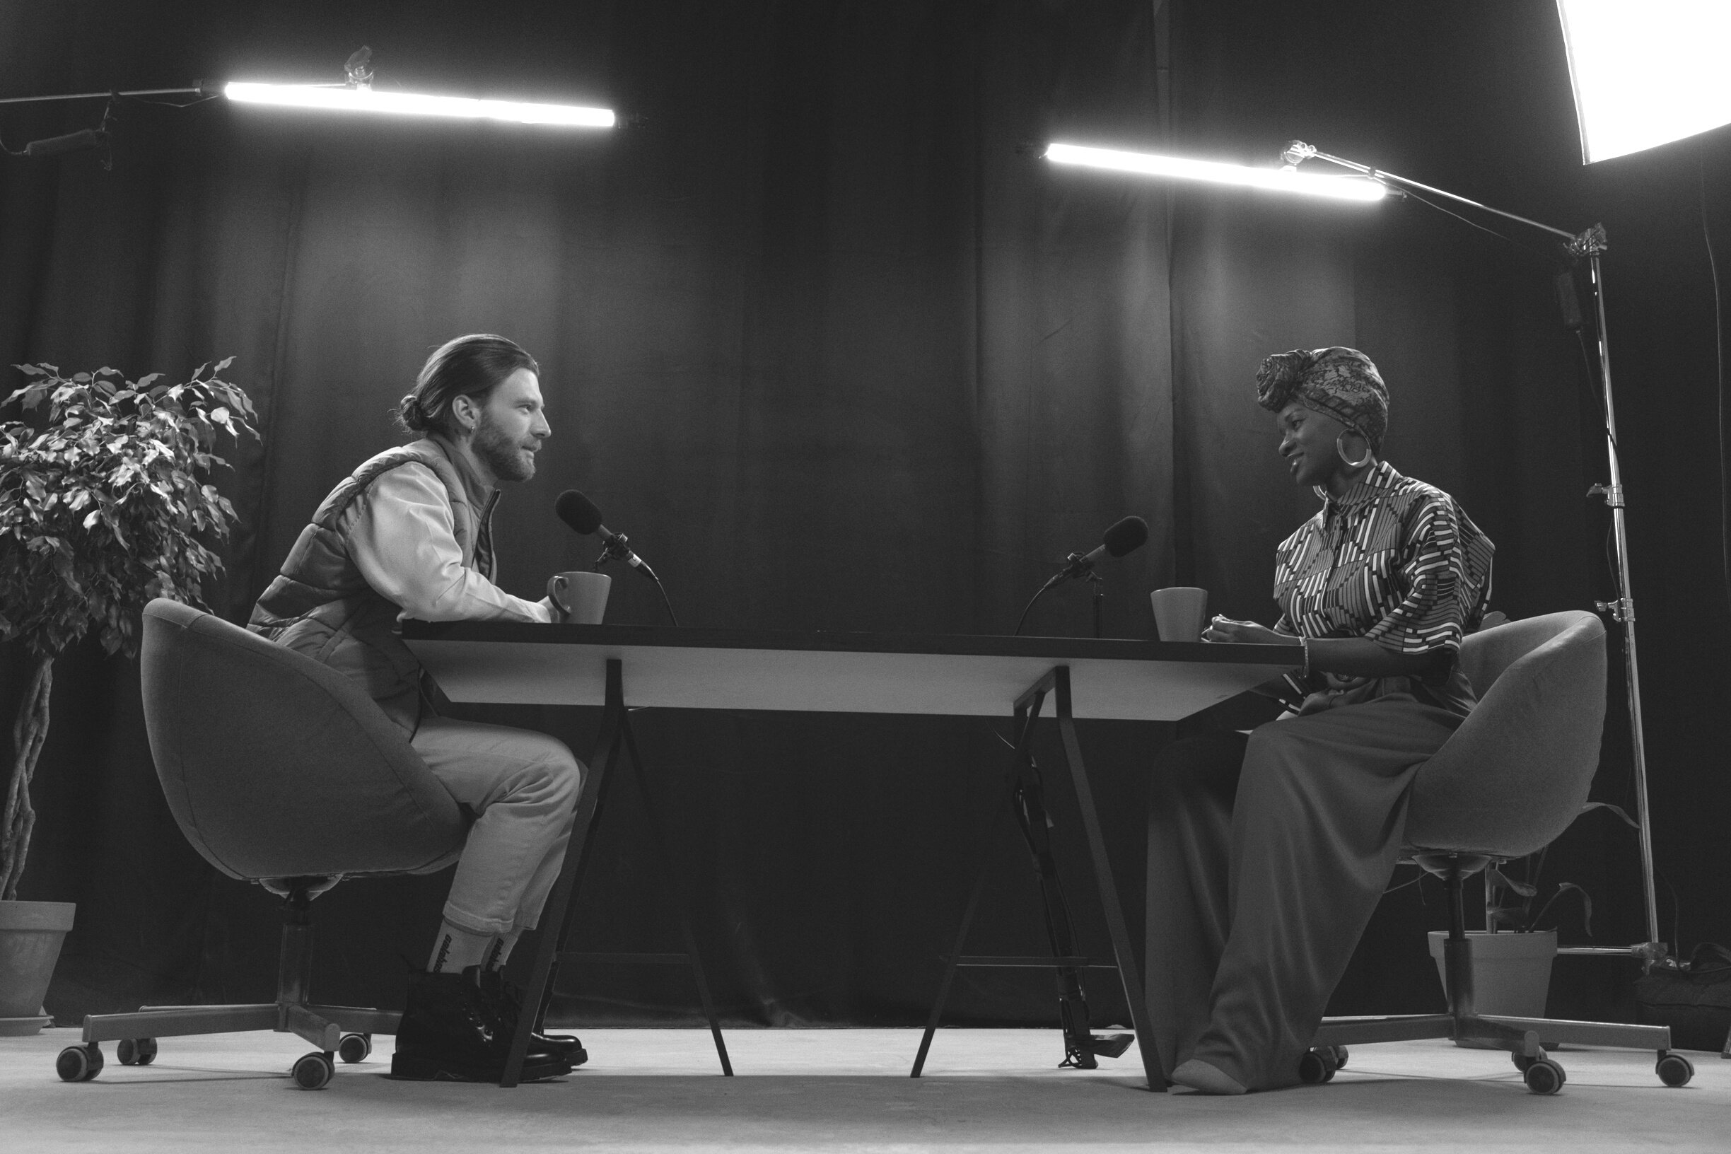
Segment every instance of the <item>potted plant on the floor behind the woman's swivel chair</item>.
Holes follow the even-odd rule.
[[[1634,825],[1634,818],[1608,801],[1580,806],[1580,813],[1589,810],[1610,810]],[[1558,882],[1551,896],[1539,901],[1548,853],[1549,846],[1518,858],[1518,867],[1515,862],[1503,862],[1485,869],[1485,927],[1466,931],[1471,941],[1475,1014],[1544,1017],[1551,964],[1556,960],[1556,929],[1541,929],[1541,924],[1563,894],[1580,894],[1582,924],[1587,936],[1593,936],[1593,896],[1575,882]],[[1430,955],[1437,960],[1437,974],[1444,984],[1449,981],[1442,957],[1447,936],[1440,929],[1430,933]]]

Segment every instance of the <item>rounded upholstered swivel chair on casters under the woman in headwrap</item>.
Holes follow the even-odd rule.
[[[1447,891],[1449,1012],[1324,1017],[1300,1061],[1300,1078],[1331,1080],[1352,1043],[1452,1038],[1509,1050],[1528,1090],[1556,1093],[1567,1076],[1546,1054],[1542,1036],[1549,1043],[1651,1048],[1660,1081],[1688,1083],[1695,1067],[1670,1050],[1665,1026],[1473,1012],[1461,879],[1542,849],[1580,813],[1605,723],[1605,626],[1580,611],[1511,621],[1466,637],[1461,666],[1478,706],[1412,779],[1402,851],[1404,860],[1442,877]]]

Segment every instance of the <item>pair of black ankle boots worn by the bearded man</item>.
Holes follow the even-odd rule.
[[[495,998],[481,990],[481,969],[460,974],[417,972],[409,978],[409,1002],[396,1028],[391,1074],[434,1081],[499,1081],[511,1055],[511,1028]],[[571,1073],[571,1062],[530,1047],[523,1081]]]

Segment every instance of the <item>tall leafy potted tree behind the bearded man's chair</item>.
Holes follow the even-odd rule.
[[[183,384],[17,365],[28,381],[0,401],[0,640],[29,659],[0,818],[0,1033],[47,1024],[42,998],[73,926],[73,903],[17,900],[54,659],[92,631],[132,657],[149,599],[203,604],[203,583],[222,571],[208,542],[235,519],[209,484],[227,464],[216,434],[256,436],[246,393],[218,379],[232,360]]]

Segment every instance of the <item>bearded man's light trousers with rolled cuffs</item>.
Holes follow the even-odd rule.
[[[452,718],[422,720],[410,744],[476,813],[445,920],[476,934],[533,929],[571,839],[583,765],[545,734]]]

